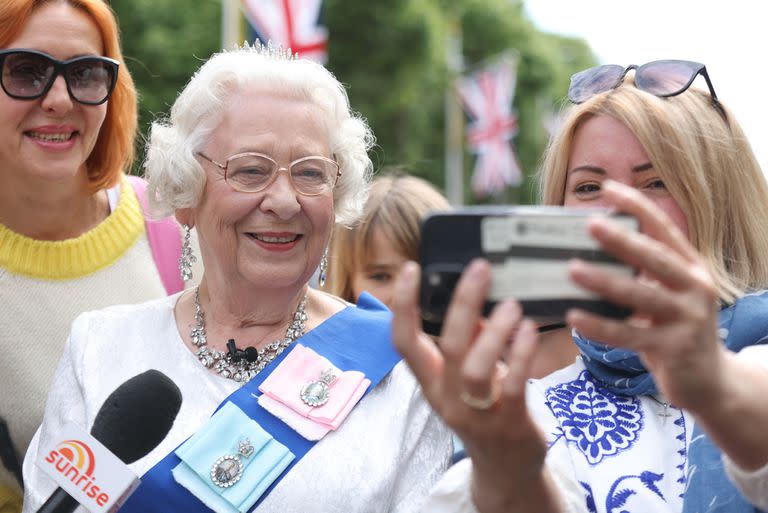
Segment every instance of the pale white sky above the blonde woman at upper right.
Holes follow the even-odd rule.
[[[525,2],[540,30],[584,38],[601,64],[704,63],[768,174],[768,16],[761,0]]]

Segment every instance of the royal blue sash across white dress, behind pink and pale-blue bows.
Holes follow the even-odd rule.
[[[364,293],[357,307],[347,307],[299,340],[305,347],[321,354],[342,371],[358,370],[371,380],[370,392],[400,361],[392,345],[391,313],[373,296]],[[267,488],[251,511],[256,509],[280,480],[315,445],[264,410],[254,396],[261,395],[259,385],[293,350],[291,345],[251,381],[233,392],[217,408],[232,402],[295,455],[292,463]],[[252,395],[253,394],[253,395]],[[365,396],[363,396],[365,397]],[[192,398],[185,398],[192,400]],[[328,436],[333,436],[329,433]],[[120,508],[120,513],[209,512],[200,500],[179,485],[171,470],[180,463],[175,451],[166,455],[142,477],[141,484]]]

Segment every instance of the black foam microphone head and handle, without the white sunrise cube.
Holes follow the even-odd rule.
[[[109,394],[93,421],[91,436],[124,463],[143,458],[163,441],[181,408],[181,391],[151,369]],[[71,513],[80,503],[57,488],[37,513]]]

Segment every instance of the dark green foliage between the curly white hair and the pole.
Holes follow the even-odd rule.
[[[326,0],[328,68],[348,85],[350,102],[377,138],[377,168],[423,170],[425,134],[445,87],[443,16],[428,0]],[[430,177],[432,178],[432,177]]]

